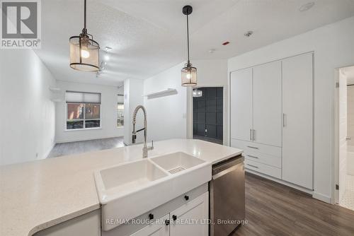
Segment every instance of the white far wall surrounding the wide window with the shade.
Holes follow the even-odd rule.
[[[118,87],[66,81],[57,81],[57,87],[61,89],[62,98],[56,106],[55,139],[57,143],[123,136],[123,128],[117,127]],[[101,93],[101,129],[66,131],[66,90]]]

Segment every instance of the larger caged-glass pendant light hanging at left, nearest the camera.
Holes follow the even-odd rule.
[[[100,45],[86,29],[86,0],[84,0],[84,29],[79,36],[69,39],[70,67],[79,71],[96,72],[99,67]]]

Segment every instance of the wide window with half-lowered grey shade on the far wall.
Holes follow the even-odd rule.
[[[101,127],[101,93],[67,91],[67,129]]]

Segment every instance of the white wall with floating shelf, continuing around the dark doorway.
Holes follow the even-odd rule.
[[[193,60],[198,69],[198,86],[224,86],[224,124],[227,124],[227,60]],[[144,81],[144,94],[176,88],[176,95],[161,98],[144,98],[147,107],[149,140],[168,138],[191,138],[193,134],[192,90],[181,85],[181,69],[184,63],[173,66]],[[228,126],[224,126],[224,139],[228,140]]]

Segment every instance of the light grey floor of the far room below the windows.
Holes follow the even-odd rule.
[[[71,143],[57,143],[48,155],[48,158],[56,158],[62,155],[72,155],[99,151],[110,148],[124,147],[123,137],[103,138],[89,141],[79,141]]]

